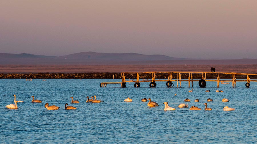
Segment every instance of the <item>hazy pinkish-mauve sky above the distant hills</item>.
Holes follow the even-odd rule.
[[[0,0],[0,53],[257,58],[254,0]]]

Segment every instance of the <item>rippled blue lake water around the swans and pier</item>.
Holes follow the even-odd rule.
[[[182,88],[166,87],[166,82],[108,84],[120,79],[0,79],[0,143],[257,143],[257,83],[232,84],[207,82],[200,88],[194,82],[193,92],[188,92],[188,82]],[[224,92],[215,92],[215,90]],[[210,92],[205,92],[210,90]],[[174,96],[174,94],[177,94]],[[12,104],[13,94],[18,109],[7,109]],[[31,96],[42,100],[32,103]],[[102,103],[86,103],[87,96],[96,95]],[[71,104],[71,96],[79,104]],[[127,97],[132,102],[123,102]],[[142,98],[151,98],[160,106],[150,108]],[[184,102],[185,98],[191,102]],[[200,102],[194,102],[198,98]],[[207,102],[212,98],[213,102]],[[228,98],[230,102],[222,102]],[[164,111],[163,102],[176,107],[180,103],[204,109],[205,102],[212,111],[192,111],[176,108]],[[47,110],[44,105],[59,106],[59,110]],[[77,110],[65,110],[65,103]],[[236,108],[223,111],[224,106]]]

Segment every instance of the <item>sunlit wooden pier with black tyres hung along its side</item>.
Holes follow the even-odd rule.
[[[162,73],[162,74],[167,74],[168,76],[168,79],[158,79],[156,80],[155,79],[155,75],[158,74],[158,73]],[[136,74],[136,80],[132,79],[130,80],[126,80],[126,77],[125,75],[126,74]],[[140,80],[139,79],[139,76],[140,74],[150,74],[151,77],[149,77],[148,79],[142,79]],[[181,74],[188,74],[188,79],[181,79]],[[201,79],[193,79],[193,75],[202,75],[202,78]],[[216,74],[218,75],[217,76],[217,80],[214,80],[214,79],[207,79],[206,77],[206,74]],[[227,80],[220,80],[220,75],[232,75],[232,79],[227,79]],[[246,80],[236,80],[236,75],[246,75],[247,78]],[[107,84],[118,84],[120,83],[121,84],[121,87],[126,87],[126,83],[134,83],[134,87],[140,87],[140,83],[143,83],[143,82],[150,82],[149,83],[149,87],[156,87],[157,84],[155,83],[156,81],[166,81],[166,86],[167,87],[173,87],[174,86],[174,83],[177,84],[177,87],[181,87],[181,82],[182,81],[188,81],[188,87],[193,87],[193,82],[198,82],[198,85],[199,87],[206,87],[206,81],[215,81],[217,82],[217,88],[220,87],[220,83],[224,83],[226,82],[225,84],[227,84],[227,82],[232,82],[232,87],[236,87],[236,82],[238,81],[245,81],[245,86],[247,88],[250,87],[250,81],[253,81],[253,82],[256,82],[257,80],[250,80],[250,76],[253,76],[253,75],[257,75],[257,74],[252,74],[252,73],[233,73],[233,72],[230,72],[230,73],[218,73],[218,72],[176,72],[176,71],[172,71],[172,72],[143,72],[143,73],[121,73],[121,82],[115,82],[115,83],[101,83],[100,84],[100,87],[106,87]],[[173,79],[172,79],[172,76],[173,76]],[[176,77],[176,79],[174,79]],[[173,82],[173,83],[172,83]]]

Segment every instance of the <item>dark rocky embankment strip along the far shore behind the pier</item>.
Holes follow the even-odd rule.
[[[207,79],[217,79],[218,74],[208,73]],[[126,74],[126,79],[136,79],[136,73]],[[246,79],[247,75],[238,75],[237,79]],[[0,73],[0,79],[121,79],[121,73]],[[140,73],[139,79],[152,79],[152,74]],[[155,79],[168,79],[167,73],[158,73]],[[177,79],[177,75],[172,75]],[[188,79],[188,73],[181,74]],[[202,74],[194,74],[194,79],[202,79]],[[220,79],[232,79],[231,75],[220,75]],[[257,76],[251,76],[257,79]]]

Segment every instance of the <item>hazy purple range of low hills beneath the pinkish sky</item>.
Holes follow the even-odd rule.
[[[0,53],[0,65],[181,65],[257,64],[257,59],[186,59],[136,53],[81,52],[64,56]]]

